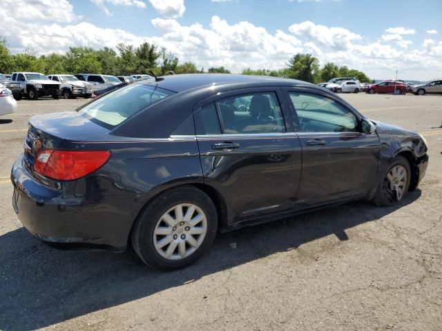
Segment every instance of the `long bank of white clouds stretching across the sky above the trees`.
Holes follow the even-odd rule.
[[[218,16],[213,16],[206,26],[182,25],[166,16],[151,20],[157,29],[153,37],[154,33],[134,34],[87,22],[65,23],[53,14],[49,22],[25,21],[21,18],[23,13],[21,17],[15,16],[15,9],[10,8],[9,3],[7,8],[0,11],[3,23],[0,35],[6,36],[13,53],[22,52],[23,48],[33,48],[39,55],[61,53],[70,46],[115,49],[118,43],[137,47],[147,41],[173,52],[180,63],[192,61],[206,70],[211,66],[224,66],[237,73],[244,68],[280,69],[285,68],[294,54],[309,52],[318,57],[322,65],[332,61],[338,66],[362,70],[375,79],[393,78],[396,69],[403,79],[432,79],[434,72],[442,72],[442,42],[425,39],[419,41],[416,49],[405,51],[405,45],[411,48],[411,41],[403,39],[403,30],[386,30],[385,37],[379,36],[372,42],[345,28],[330,28],[309,21],[288,28],[281,26],[273,32],[248,21],[229,23]],[[71,19],[75,19],[73,11],[70,14]],[[32,17],[38,19],[36,15]],[[32,33],[37,30],[38,34]]]

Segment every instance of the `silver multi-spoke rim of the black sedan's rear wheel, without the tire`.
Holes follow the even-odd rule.
[[[157,221],[153,245],[164,259],[180,260],[200,247],[206,232],[207,218],[202,209],[193,203],[180,203]]]

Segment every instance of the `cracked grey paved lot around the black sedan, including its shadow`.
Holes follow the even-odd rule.
[[[28,119],[85,101],[19,101],[0,118],[0,330],[441,330],[442,96],[343,97],[424,134],[420,190],[396,208],[360,201],[221,234],[169,273],[131,251],[55,250],[21,227],[9,174]]]

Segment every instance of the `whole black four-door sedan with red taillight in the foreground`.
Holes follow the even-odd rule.
[[[292,79],[183,74],[32,117],[12,204],[52,243],[124,251],[170,270],[215,234],[415,190],[427,144]]]

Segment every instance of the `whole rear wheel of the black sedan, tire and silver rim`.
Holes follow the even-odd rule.
[[[148,203],[131,232],[133,249],[159,270],[184,268],[206,253],[215,239],[218,214],[198,188],[183,186]]]

